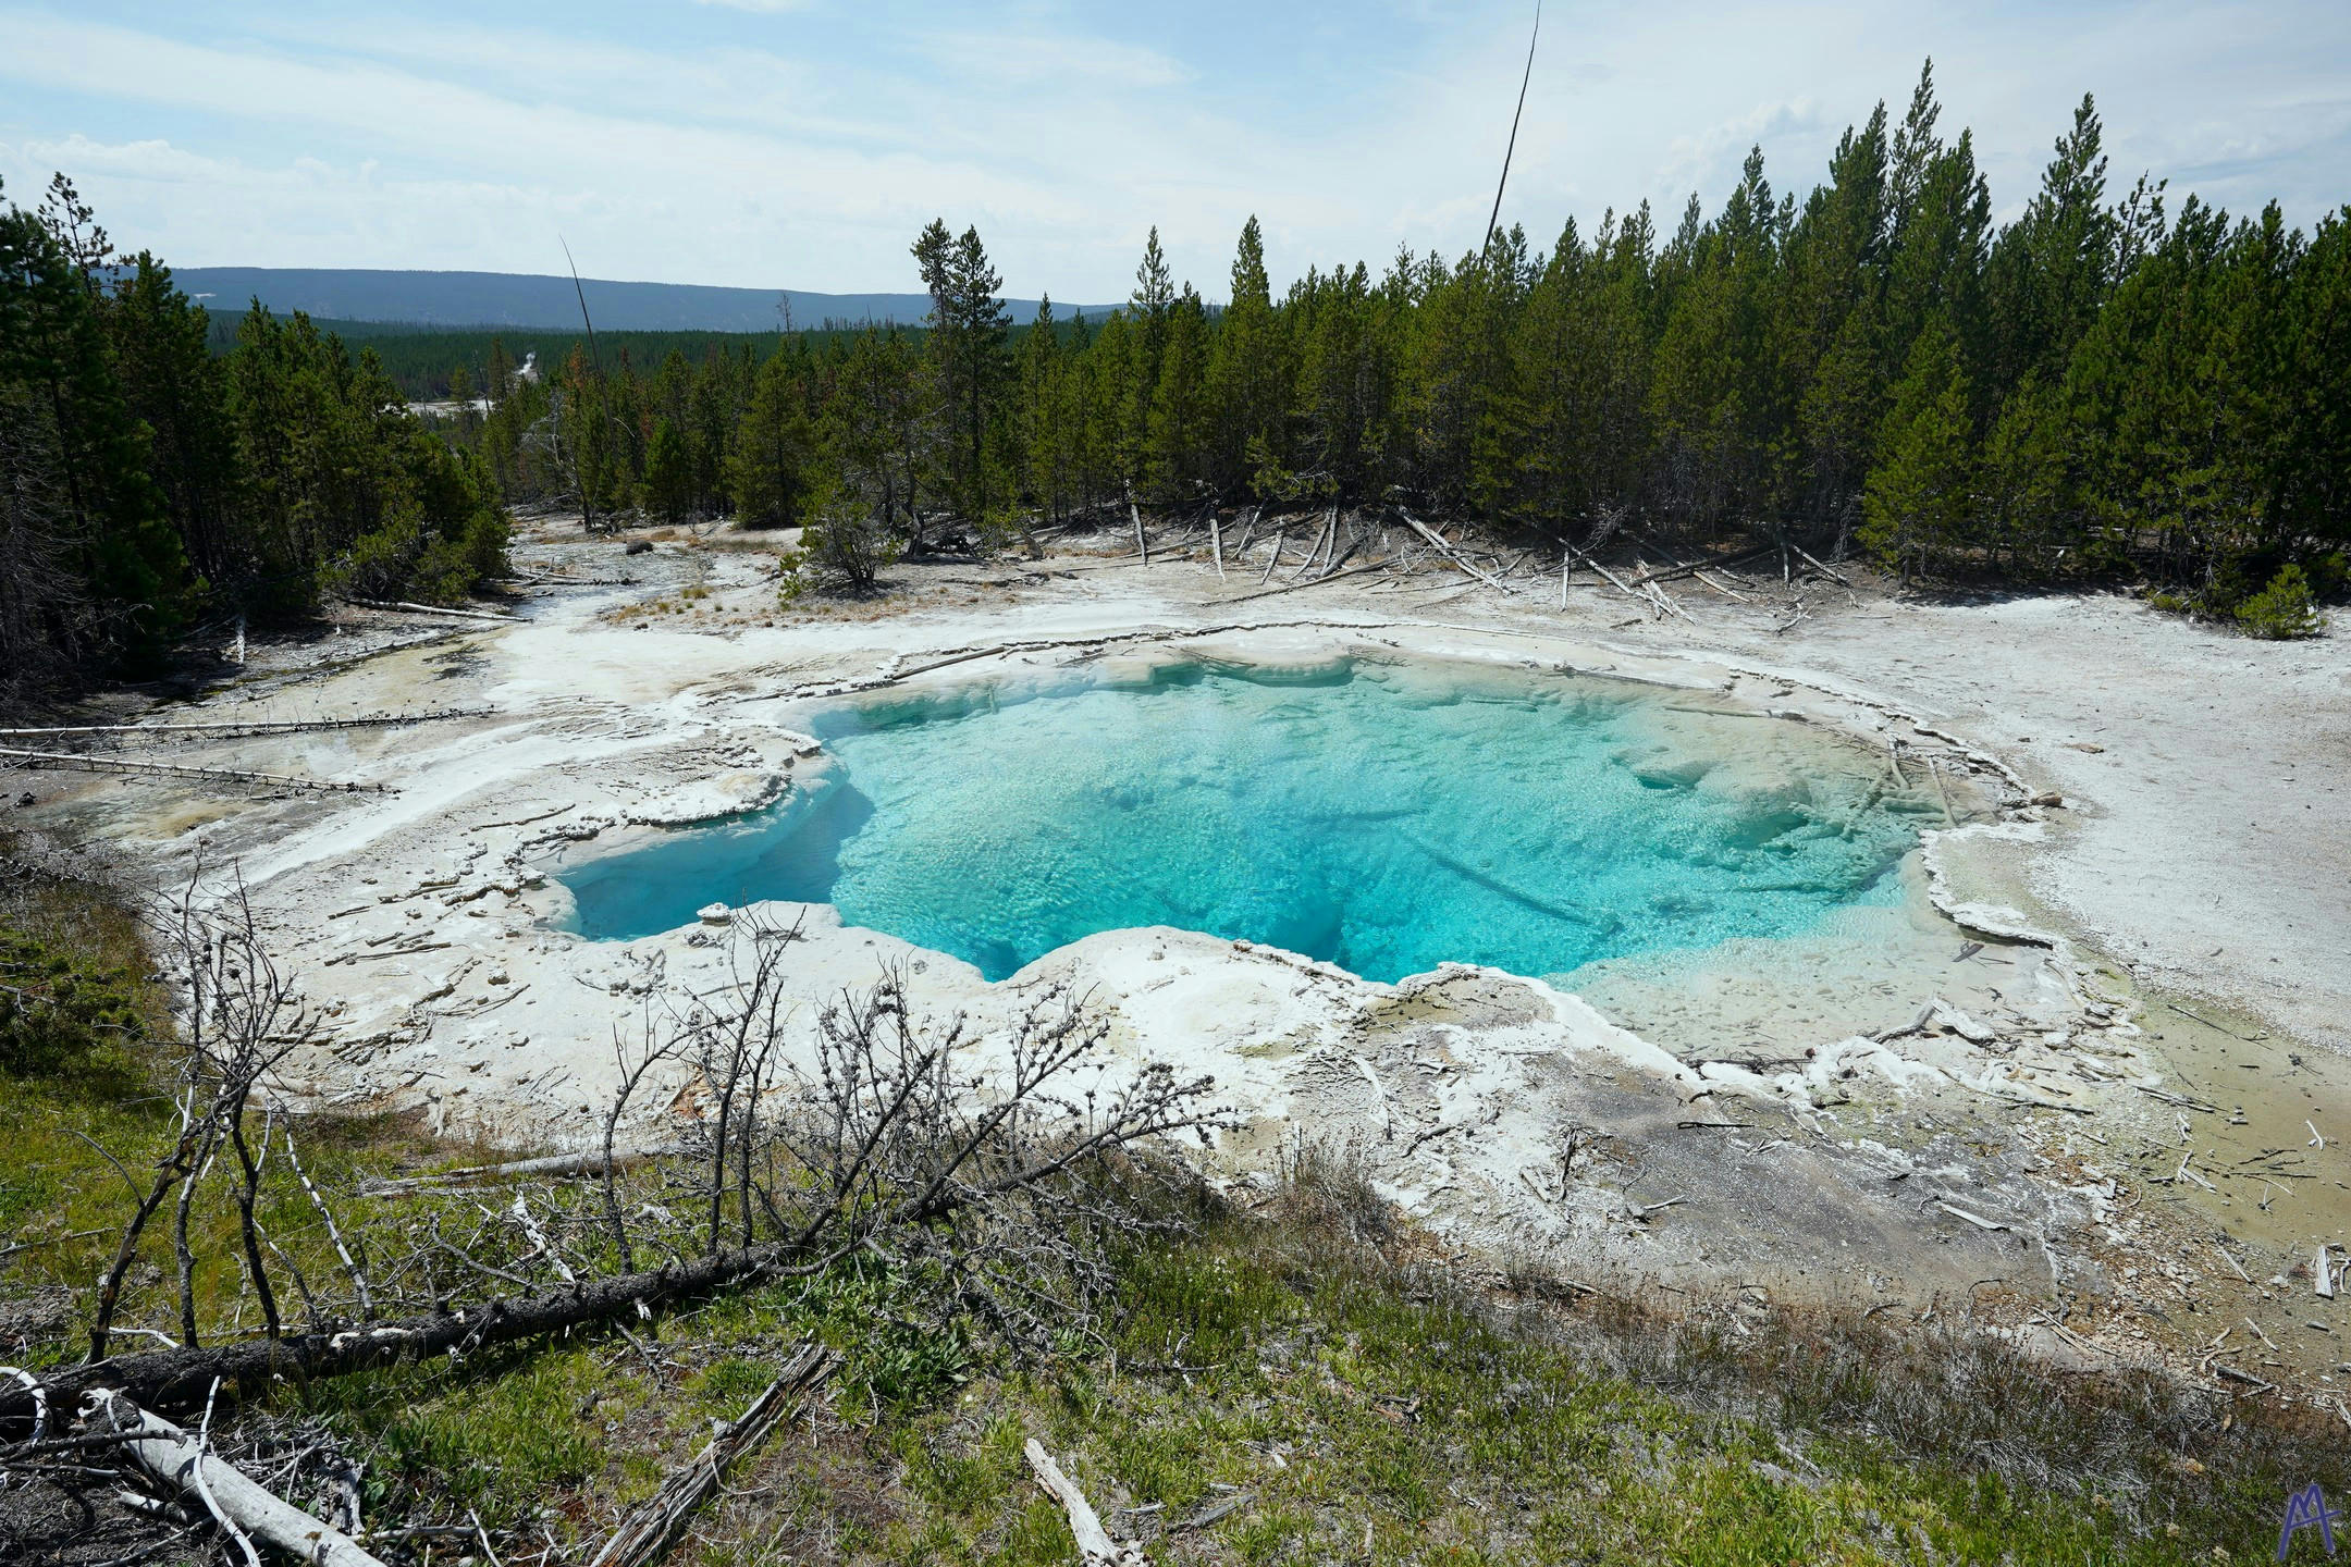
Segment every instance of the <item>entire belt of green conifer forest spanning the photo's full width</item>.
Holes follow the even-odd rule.
[[[193,618],[463,592],[498,507],[809,524],[820,557],[1004,547],[1128,503],[1408,507],[1552,547],[1742,529],[1907,578],[2144,580],[2269,630],[2351,545],[2351,209],[2290,230],[2116,193],[2083,99],[2008,226],[1923,73],[1780,195],[1540,249],[1399,251],[1272,294],[1258,223],[1211,310],[1152,233],[1131,298],[1016,327],[980,235],[912,244],[922,329],[400,338],[428,430],[308,315],[226,357],[59,183],[0,228],[0,653],[136,658]],[[108,282],[115,280],[115,282]],[[576,301],[574,301],[576,303]],[[517,352],[522,348],[522,352]],[[644,352],[639,352],[644,350]]]

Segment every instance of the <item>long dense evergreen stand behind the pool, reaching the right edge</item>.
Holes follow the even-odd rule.
[[[588,355],[475,435],[508,496],[590,515],[1004,540],[1157,512],[1408,505],[1585,545],[1728,526],[1904,576],[2144,573],[2229,611],[2351,538],[2351,209],[2288,230],[2139,179],[2095,103],[1996,228],[1933,68],[1801,200],[1751,153],[1723,209],[1648,207],[1549,249],[1310,270],[1274,298],[1255,218],[1230,303],[1152,235],[1103,322],[1013,336],[980,237],[933,223],[929,331],[764,362]]]

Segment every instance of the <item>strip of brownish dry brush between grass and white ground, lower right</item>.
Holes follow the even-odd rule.
[[[1380,1203],[1345,1149],[1298,1144],[1277,1201],[1232,1212],[1230,1224],[1293,1278],[1399,1290],[1549,1346],[1585,1374],[1754,1421],[1799,1450],[1860,1440],[1893,1464],[2102,1497],[2121,1522],[2142,1527],[2163,1522],[2182,1485],[2205,1501],[2283,1497],[2285,1485],[2313,1478],[2327,1492],[2351,1489],[2351,1452],[2332,1410],[2233,1398],[2161,1370],[2067,1372],[1989,1332],[1965,1302],[1935,1302],[1928,1320],[1911,1320],[1860,1302],[1566,1278],[1528,1257],[1462,1269]]]

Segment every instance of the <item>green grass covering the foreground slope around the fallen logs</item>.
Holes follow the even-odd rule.
[[[0,1245],[24,1247],[0,1271],[0,1320],[16,1323],[0,1349],[26,1365],[78,1351],[71,1292],[113,1255],[127,1205],[113,1163],[139,1179],[169,1132],[169,1045],[136,944],[75,897],[7,926],[45,966],[87,975],[106,1024],[63,1041],[82,1069],[0,1081]],[[299,1137],[376,1262],[418,1255],[435,1222],[449,1236],[496,1224],[510,1201],[357,1198],[367,1175],[451,1161],[404,1118],[303,1121]],[[684,1177],[635,1170],[625,1201],[675,1201]],[[703,1562],[1070,1562],[1030,1438],[1161,1567],[2248,1560],[2273,1551],[2290,1489],[2351,1494],[2330,1414],[2161,1377],[2064,1377],[1965,1325],[1559,1304],[1526,1271],[1505,1276],[1523,1294],[1472,1287],[1359,1182],[1295,1177],[1258,1215],[1199,1203],[1190,1233],[1138,1236],[1114,1309],[1049,1351],[992,1341],[938,1271],[858,1255],[625,1334],[289,1386],[223,1412],[221,1433],[294,1424],[364,1459],[376,1527],[480,1513],[510,1553],[552,1536],[585,1558],[795,1344],[830,1344],[842,1363],[823,1407],[698,1515],[677,1560]],[[600,1201],[592,1184],[527,1196],[550,1226],[597,1233],[581,1208]],[[193,1219],[205,1332],[249,1330],[226,1186],[202,1189]],[[263,1222],[292,1264],[336,1278],[299,1184],[266,1189]],[[82,1229],[99,1233],[66,1238]],[[176,1327],[167,1236],[148,1238],[125,1323]],[[21,1311],[42,1292],[68,1309]]]

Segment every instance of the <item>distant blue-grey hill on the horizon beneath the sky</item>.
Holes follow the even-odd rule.
[[[259,298],[277,315],[303,310],[346,322],[409,322],[418,327],[543,327],[578,329],[581,303],[569,277],[527,273],[379,273],[364,268],[190,265],[172,277],[214,315],[242,315]],[[583,277],[597,331],[776,331],[778,301],[790,301],[792,327],[828,322],[919,324],[929,294],[809,294],[804,289],[712,289],[689,282],[611,282]],[[1009,298],[1013,324],[1037,317],[1034,298]],[[1053,312],[1067,320],[1070,308]],[[1086,305],[1100,320],[1105,305]]]

